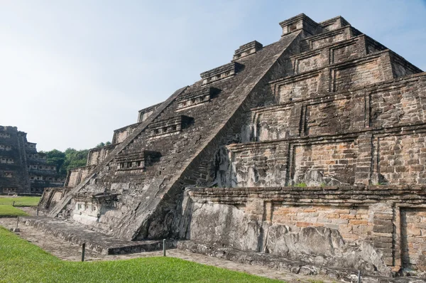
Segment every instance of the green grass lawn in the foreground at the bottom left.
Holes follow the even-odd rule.
[[[173,257],[65,262],[0,227],[0,282],[280,282]]]

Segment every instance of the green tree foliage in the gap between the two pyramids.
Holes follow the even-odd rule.
[[[109,144],[111,142],[101,142],[96,147],[107,146]],[[86,166],[89,149],[77,150],[68,148],[63,152],[53,149],[51,151],[44,151],[44,153],[46,154],[48,164],[55,165],[56,171],[61,175],[67,175],[67,171],[72,168]]]

